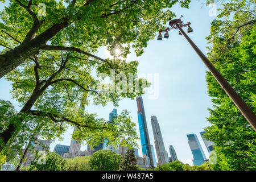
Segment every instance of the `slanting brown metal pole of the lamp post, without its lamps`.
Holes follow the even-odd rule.
[[[196,46],[195,43],[193,43],[193,41],[183,31],[183,29],[179,26],[179,24],[175,23],[175,25],[177,26],[177,28],[179,28],[181,34],[183,34],[185,39],[187,39],[188,43],[191,44],[193,49],[195,49],[197,55],[199,55],[199,57],[204,62],[204,64],[207,66],[207,68],[212,73],[214,78],[216,78],[216,80],[221,85],[221,87],[225,90],[225,92],[228,94],[228,96],[231,98],[231,100],[234,102],[234,104],[237,106],[237,108],[241,111],[241,113],[246,118],[246,120],[250,123],[250,125],[256,131],[256,115],[253,113],[253,111],[250,109],[250,107],[245,104],[245,102],[242,100],[242,98],[240,96],[238,96],[238,94],[232,88],[232,86],[230,86],[229,83],[225,80],[225,78],[222,77],[222,75],[220,74],[220,72],[217,71],[217,69],[214,67],[214,65],[212,63],[210,63],[210,61],[207,59],[207,57],[204,55],[204,53],[200,51],[200,49]]]

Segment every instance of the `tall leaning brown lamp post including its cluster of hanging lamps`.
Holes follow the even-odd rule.
[[[181,15],[181,17],[183,16]],[[196,51],[197,55],[199,55],[201,60],[207,66],[210,73],[212,73],[214,78],[221,85],[222,89],[225,90],[225,92],[228,94],[228,96],[231,98],[231,100],[234,102],[237,108],[241,111],[241,113],[246,118],[246,120],[250,123],[251,127],[253,127],[253,129],[256,131],[256,115],[253,113],[250,107],[245,104],[245,102],[236,93],[236,91],[232,88],[232,86],[229,85],[228,81],[226,81],[225,78],[222,77],[222,75],[220,74],[220,72],[217,71],[214,65],[210,63],[210,61],[207,59],[204,53],[200,51],[200,49],[196,46],[196,44],[193,43],[193,41],[189,38],[189,36],[183,31],[182,27],[188,27],[188,33],[193,32],[193,29],[190,27],[191,23],[188,22],[187,24],[183,24],[183,22],[181,21],[181,18],[179,18],[179,19],[170,20],[169,25],[170,27],[167,27],[165,30],[159,31],[158,40],[163,39],[163,36],[161,35],[162,32],[166,32],[164,34],[164,38],[169,38],[168,31],[172,29],[178,29],[179,35],[182,34],[185,37],[185,39],[188,41],[188,43],[191,44],[192,48]]]

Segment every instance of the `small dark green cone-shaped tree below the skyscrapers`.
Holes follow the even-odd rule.
[[[119,171],[139,171],[134,150],[128,149],[126,151],[126,154],[123,156],[123,160],[119,166]]]

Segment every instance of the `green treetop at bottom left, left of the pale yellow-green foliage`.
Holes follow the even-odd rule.
[[[64,171],[67,167],[67,160],[55,152],[47,152],[45,164],[43,162],[43,155],[37,152],[28,171]]]

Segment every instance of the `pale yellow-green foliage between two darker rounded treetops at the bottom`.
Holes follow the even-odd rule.
[[[67,160],[67,171],[89,171],[89,156],[77,157]]]

